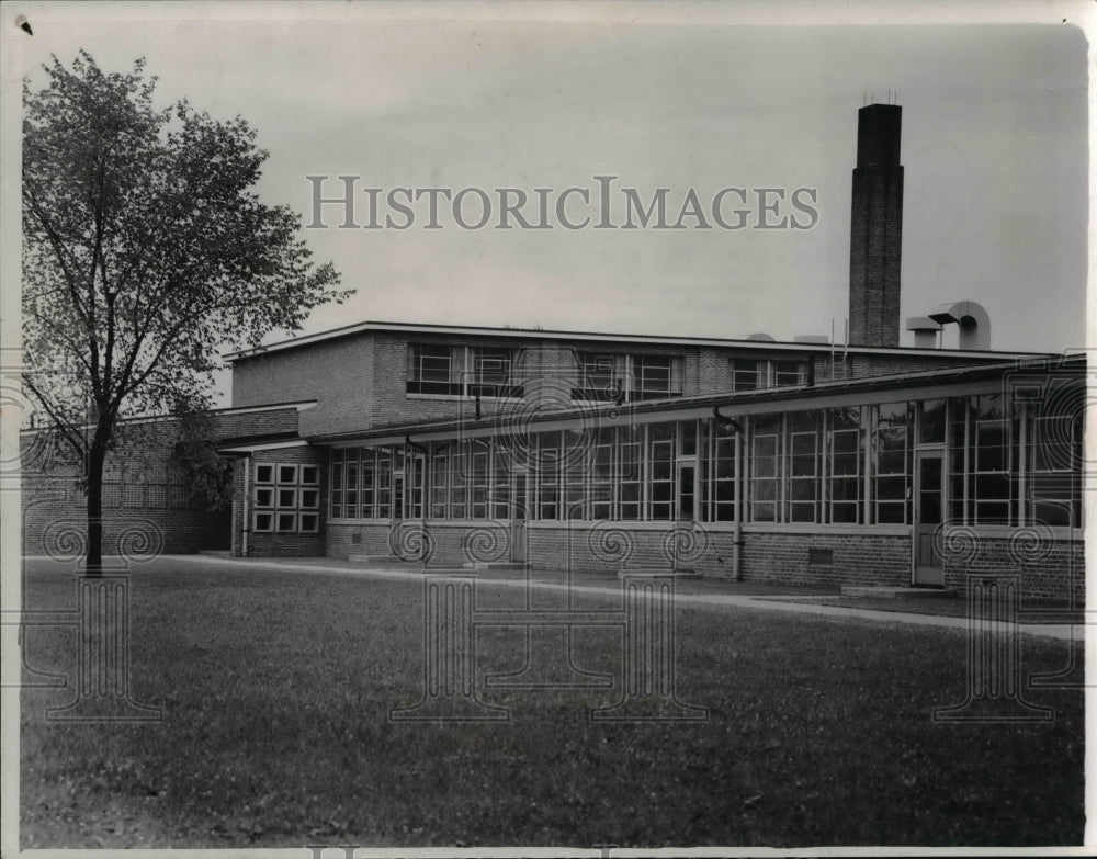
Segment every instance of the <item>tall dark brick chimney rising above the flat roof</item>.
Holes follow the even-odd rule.
[[[903,251],[903,109],[870,104],[857,114],[849,241],[849,342],[898,346]]]

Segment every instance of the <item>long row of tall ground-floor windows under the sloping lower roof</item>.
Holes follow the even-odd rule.
[[[999,395],[762,415],[743,425],[742,463],[732,430],[710,419],[437,442],[408,455],[337,450],[329,515],[509,519],[521,498],[517,515],[539,520],[725,522],[735,519],[742,465],[750,522],[909,524],[917,516],[934,523],[946,512],[969,524],[1081,521],[1077,421],[1034,409],[1009,416]],[[937,461],[936,472],[920,468],[920,486],[916,454]]]

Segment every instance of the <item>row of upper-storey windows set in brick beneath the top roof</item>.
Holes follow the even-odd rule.
[[[596,402],[665,399],[682,394],[682,358],[666,354],[576,351],[572,398]],[[407,393],[521,397],[523,350],[412,343]],[[799,360],[732,359],[732,391],[755,391],[806,382]]]

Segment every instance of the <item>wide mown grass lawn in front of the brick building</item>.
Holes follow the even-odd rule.
[[[36,608],[73,602],[56,569],[32,568],[26,591]],[[522,591],[483,597],[513,606]],[[678,694],[705,722],[590,722],[612,690],[487,690],[511,721],[393,723],[389,708],[420,698],[421,600],[407,581],[140,568],[133,688],[166,717],[49,723],[44,709],[72,693],[24,690],[22,845],[1081,843],[1081,692],[1026,691],[1052,724],[935,723],[964,698],[962,632],[682,607]],[[577,631],[576,664],[615,672],[617,635]],[[27,664],[66,670],[73,643],[29,629]],[[519,668],[522,643],[486,631],[479,670]],[[1022,648],[1026,672],[1070,654]]]

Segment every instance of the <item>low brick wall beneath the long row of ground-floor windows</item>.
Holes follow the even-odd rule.
[[[476,561],[510,560],[510,527],[505,521],[428,522],[429,565],[460,567]],[[421,525],[406,522],[398,541],[408,556],[421,545]],[[541,569],[615,573],[622,568],[666,569],[677,566],[704,576],[731,577],[734,531],[630,527],[624,522],[559,522],[531,524],[527,545],[531,564]],[[387,523],[335,523],[327,529],[326,555],[388,555]],[[946,585],[963,589],[968,573],[1019,572],[1021,596],[1038,599],[1084,599],[1085,566],[1081,540],[1019,546],[1018,541],[980,539],[979,551],[962,562],[947,555]],[[742,573],[745,581],[769,581],[837,589],[842,585],[911,584],[911,536],[795,530],[743,530]],[[1027,552],[1028,554],[1025,554]]]

